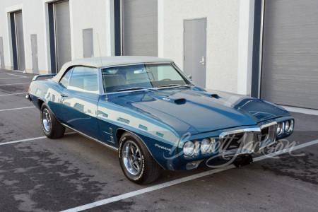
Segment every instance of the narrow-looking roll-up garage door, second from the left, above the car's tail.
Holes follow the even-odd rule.
[[[69,1],[54,4],[57,71],[64,63],[71,61],[71,27]]]

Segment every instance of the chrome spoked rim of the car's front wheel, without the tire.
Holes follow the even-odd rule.
[[[124,143],[122,158],[126,170],[131,175],[139,175],[142,170],[143,160],[141,151],[134,141],[126,141]]]

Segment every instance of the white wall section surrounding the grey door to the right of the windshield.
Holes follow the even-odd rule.
[[[237,93],[240,1],[158,1],[159,57],[183,69],[183,21],[206,18],[206,88]]]

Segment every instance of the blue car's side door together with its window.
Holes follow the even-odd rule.
[[[61,78],[60,83],[65,87],[61,94],[61,114],[64,123],[98,139],[98,69],[74,66]]]

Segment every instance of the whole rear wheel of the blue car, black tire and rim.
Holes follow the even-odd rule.
[[[49,139],[59,139],[64,136],[65,127],[59,123],[47,104],[43,103],[40,112],[41,125],[45,136]]]

